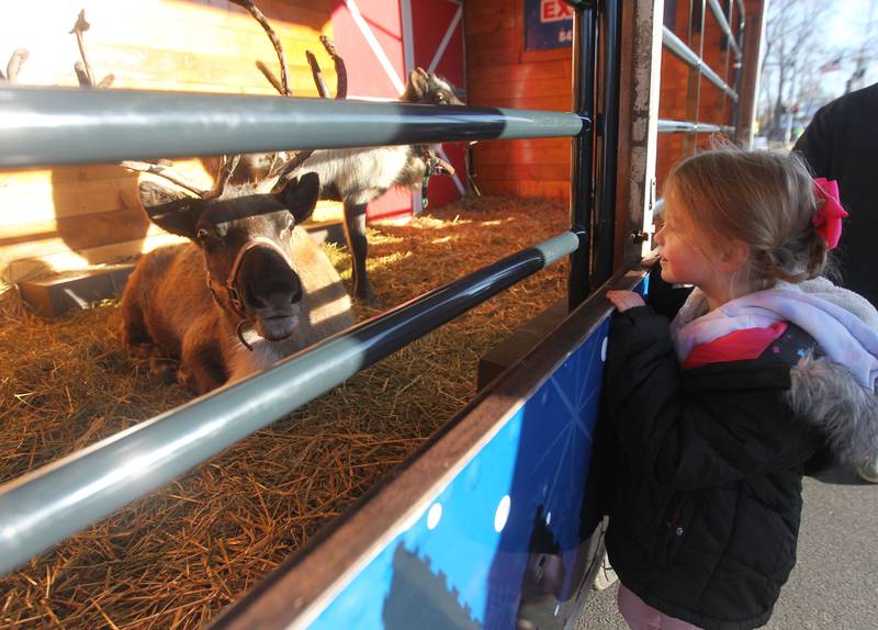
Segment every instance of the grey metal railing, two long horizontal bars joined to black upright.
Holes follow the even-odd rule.
[[[607,4],[616,10],[614,1]],[[587,270],[576,266],[590,258],[585,236],[593,221],[592,195],[582,180],[590,182],[595,166],[597,9],[593,3],[575,8],[576,113],[1,88],[0,166],[549,136],[575,137],[579,157],[571,176],[570,232],[0,486],[0,573],[573,252],[571,305],[582,301],[589,280]],[[617,69],[607,64],[605,71]],[[612,256],[611,249],[607,255]]]

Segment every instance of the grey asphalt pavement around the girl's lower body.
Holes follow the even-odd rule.
[[[878,630],[878,485],[833,473],[806,477],[796,569],[769,630]],[[593,592],[577,630],[628,630],[618,582]]]

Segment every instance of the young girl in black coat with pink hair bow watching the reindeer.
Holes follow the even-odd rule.
[[[619,609],[638,630],[756,628],[796,562],[806,465],[878,477],[878,314],[820,278],[845,212],[795,155],[689,158],[664,215],[662,280],[695,285],[676,317],[608,293]]]

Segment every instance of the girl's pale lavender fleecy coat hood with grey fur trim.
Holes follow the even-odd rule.
[[[678,355],[731,330],[777,320],[791,322],[811,335],[821,356],[808,353],[790,371],[790,407],[826,436],[840,463],[855,470],[875,468],[878,312],[865,297],[815,278],[799,284],[781,282],[706,311],[707,301],[696,289],[672,323]]]

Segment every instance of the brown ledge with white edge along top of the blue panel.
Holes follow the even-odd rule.
[[[643,274],[643,271],[620,272],[604,284],[603,289],[633,290],[642,281]],[[362,576],[363,571],[369,571],[367,565],[371,564],[372,569],[379,565],[380,560],[375,562],[375,556],[389,543],[393,544],[391,541],[398,532],[412,527],[413,514],[420,513],[425,503],[432,503],[442,488],[453,487],[455,479],[466,477],[466,465],[476,460],[480,451],[489,442],[496,446],[495,440],[505,439],[498,431],[503,430],[522,403],[531,400],[548,380],[556,375],[562,364],[570,361],[572,353],[582,344],[587,342],[588,337],[595,334],[611,311],[604,300],[603,291],[593,294],[537,346],[525,361],[509,370],[504,379],[493,382],[466,409],[449,420],[441,435],[434,436],[417,457],[407,460],[407,465],[397,466],[396,474],[387,475],[381,483],[372,486],[372,495],[368,500],[360,500],[348,509],[345,518],[335,519],[333,527],[324,528],[323,536],[312,538],[306,547],[300,548],[295,555],[223,610],[211,625],[211,630],[327,627],[327,620],[322,620],[320,616],[328,606],[338,601],[339,597],[344,598],[342,592],[358,576]],[[570,465],[569,462],[566,460],[562,465]],[[406,535],[406,544],[410,548],[416,542]],[[514,553],[514,544],[505,547],[503,553]],[[526,550],[524,552],[527,553]],[[573,587],[578,583],[577,574],[581,569],[585,567],[574,564],[572,570],[567,570],[567,580]],[[476,584],[477,580],[471,583],[471,587]],[[491,586],[496,587],[496,581]],[[429,597],[431,593],[420,590],[419,595]],[[492,605],[499,604],[506,596],[506,593],[498,594]],[[554,606],[555,603],[552,603],[552,608]],[[351,610],[351,614],[356,615],[357,611]],[[471,627],[454,623],[449,618],[436,618],[437,622],[424,623],[424,630]],[[552,619],[551,612],[544,618]],[[562,618],[563,616],[555,617],[556,622],[550,621],[540,628],[560,630]],[[339,618],[334,620],[338,623]],[[565,628],[571,626],[569,623]],[[336,627],[348,629],[373,626],[348,621]],[[398,626],[389,623],[387,627]],[[420,628],[415,623],[407,627]],[[492,628],[497,627],[499,626],[494,623]]]

